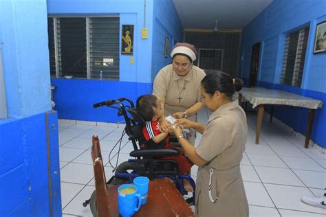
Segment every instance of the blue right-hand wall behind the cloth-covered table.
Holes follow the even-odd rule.
[[[242,60],[239,77],[248,82],[252,45],[261,42],[258,85],[305,95],[323,101],[316,111],[312,140],[326,147],[326,53],[313,54],[316,23],[326,20],[326,1],[275,0],[244,29],[241,38]],[[280,84],[285,36],[287,33],[309,27],[305,67],[301,88]],[[276,108],[275,116],[305,135],[307,109],[296,107]]]

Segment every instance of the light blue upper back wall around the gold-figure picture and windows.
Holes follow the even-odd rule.
[[[151,50],[153,34],[153,0],[146,1],[146,27],[149,29],[149,38],[141,38],[144,25],[144,1],[142,0],[47,0],[49,15],[69,16],[78,15],[119,15],[121,25],[134,25],[133,58],[131,55],[120,54],[120,81],[123,82],[151,82]],[[120,29],[121,35],[121,29]],[[121,47],[121,38],[120,38]]]

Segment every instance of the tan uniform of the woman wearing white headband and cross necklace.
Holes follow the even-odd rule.
[[[165,116],[186,111],[196,102],[201,102],[200,82],[205,76],[206,73],[194,65],[186,76],[178,76],[172,64],[161,69],[154,80],[153,95],[165,100]],[[195,121],[196,115],[188,119]],[[191,144],[195,144],[195,137],[196,131],[190,129],[187,139]]]

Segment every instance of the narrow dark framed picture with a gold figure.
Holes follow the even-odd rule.
[[[121,54],[133,55],[133,25],[122,25]]]

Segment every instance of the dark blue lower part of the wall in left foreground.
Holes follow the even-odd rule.
[[[50,130],[53,212],[61,216],[58,117],[56,112],[48,113],[46,126],[46,114],[0,121],[0,216],[50,216],[46,128]]]

